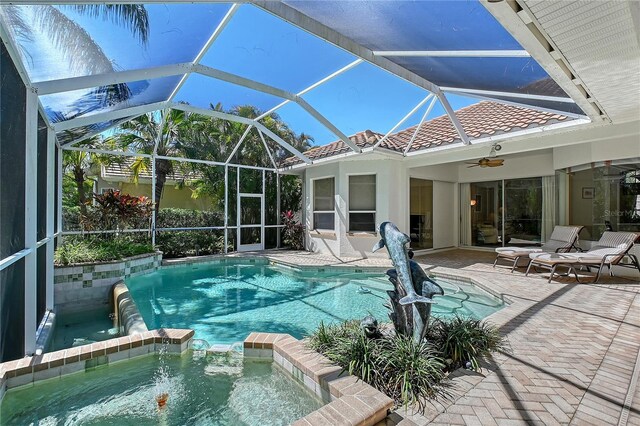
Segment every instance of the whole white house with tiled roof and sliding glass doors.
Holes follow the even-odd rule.
[[[312,165],[287,159],[286,173],[304,179],[308,248],[372,256],[387,220],[416,250],[532,244],[555,224],[585,225],[583,240],[597,240],[606,222],[640,230],[638,122],[590,126],[489,101],[456,115],[469,146],[442,116],[417,132],[357,133],[360,154],[338,141],[305,152]],[[504,164],[478,166],[485,157]]]

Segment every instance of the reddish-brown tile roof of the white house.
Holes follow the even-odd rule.
[[[571,118],[561,114],[492,101],[482,101],[461,108],[456,111],[456,116],[472,140],[571,120]],[[390,135],[380,144],[380,147],[403,152],[416,127],[412,126]],[[359,147],[367,148],[375,145],[382,137],[383,135],[380,133],[365,130],[350,136],[349,139]],[[451,124],[449,117],[443,115],[426,121],[420,126],[420,131],[414,139],[409,152],[427,150],[455,142],[460,142],[460,136]],[[328,145],[314,147],[305,151],[304,154],[311,160],[317,160],[343,154],[350,150],[344,142],[336,141]],[[281,164],[282,167],[290,167],[301,163],[302,161],[297,157],[289,157]]]

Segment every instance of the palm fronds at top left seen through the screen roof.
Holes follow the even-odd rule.
[[[85,4],[59,7],[38,5],[28,8],[12,5],[2,6],[0,8],[0,23],[9,30],[13,39],[18,42],[15,44],[25,62],[29,61],[30,57],[19,42],[33,41],[37,29],[53,42],[73,72],[100,74],[115,71],[114,64],[91,35],[67,17],[60,10],[61,8],[68,8],[93,18],[110,20],[114,24],[130,30],[141,44],[146,45],[148,42],[149,18],[144,5]],[[83,103],[87,99],[91,99],[92,102],[87,103],[84,111],[75,115],[112,105],[114,102],[122,102],[129,99],[130,96],[129,86],[124,83],[96,88],[85,95],[82,100]],[[64,117],[64,119],[70,118],[73,117]]]

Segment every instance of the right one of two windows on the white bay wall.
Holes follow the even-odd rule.
[[[349,176],[349,232],[376,231],[376,175]]]

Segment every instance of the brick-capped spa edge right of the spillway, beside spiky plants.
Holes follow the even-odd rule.
[[[325,402],[293,426],[371,426],[384,420],[394,406],[393,399],[289,334],[253,332],[243,346],[245,358],[271,358]]]

